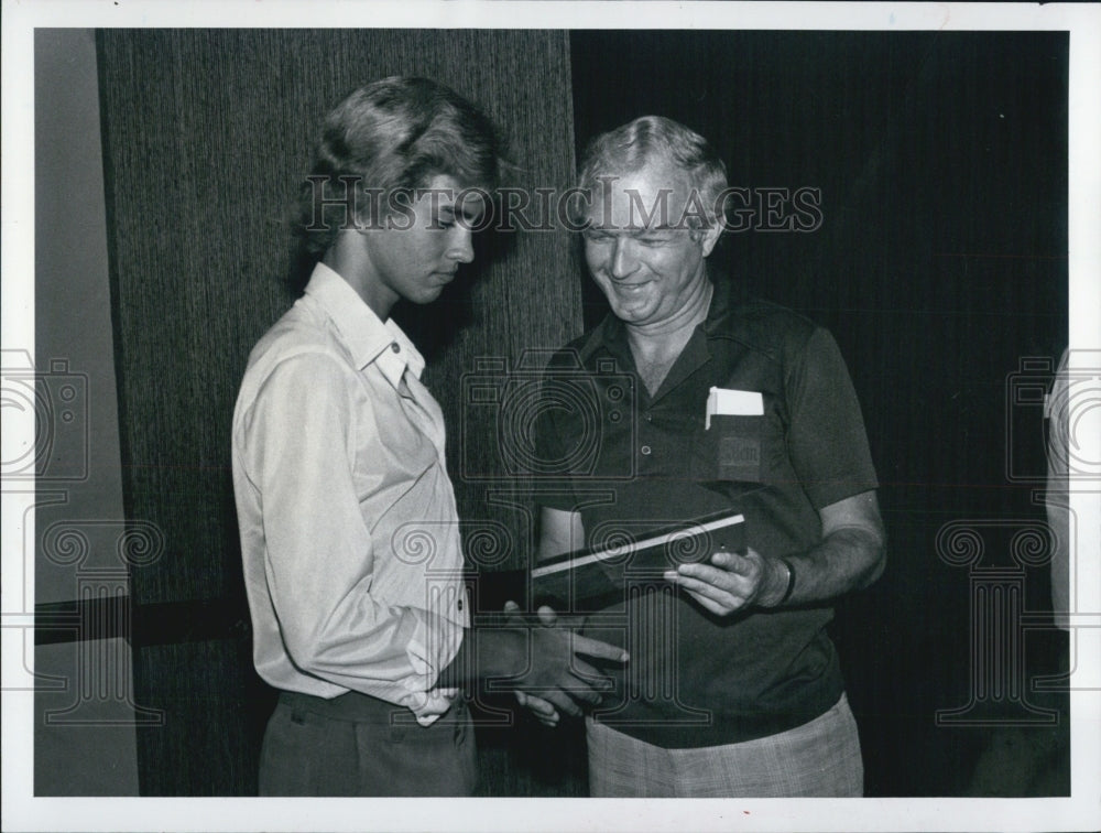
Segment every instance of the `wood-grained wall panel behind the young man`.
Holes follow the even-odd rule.
[[[230,416],[249,349],[293,300],[284,217],[320,118],[361,83],[435,77],[505,128],[519,184],[560,188],[573,167],[566,34],[109,30],[99,50],[126,510],[166,534],[164,558],[135,571],[133,594],[242,607]],[[579,327],[579,303],[577,284],[562,280],[563,238],[488,244],[492,262],[401,321],[430,357],[460,511],[494,522],[482,524],[503,542],[493,565],[509,566],[526,555],[528,524],[521,511],[487,508],[484,485],[462,477],[464,374],[478,356],[560,344]],[[492,415],[473,420],[468,457],[489,470]],[[248,724],[266,715],[248,713],[259,689],[247,645],[145,648],[137,664],[140,702],[167,711],[166,725],[140,738],[142,792],[253,790]]]

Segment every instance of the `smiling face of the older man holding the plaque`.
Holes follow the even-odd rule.
[[[672,321],[707,280],[704,258],[719,229],[684,227],[686,207],[696,213],[690,197],[682,171],[655,163],[619,175],[593,195],[585,259],[612,312],[628,324]]]

